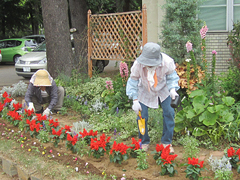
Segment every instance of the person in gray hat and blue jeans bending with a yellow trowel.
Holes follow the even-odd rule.
[[[142,54],[136,59],[127,82],[126,94],[133,99],[132,109],[138,115],[138,134],[142,140],[142,149],[147,151],[150,143],[148,136],[148,108],[163,109],[163,132],[161,143],[166,147],[170,144],[170,152],[174,153],[172,138],[174,132],[174,109],[171,107],[171,99],[175,99],[179,76],[175,71],[174,60],[167,54],[160,52],[160,46],[156,43],[146,43]],[[139,111],[143,124],[139,121]],[[139,129],[143,127],[143,129]]]

